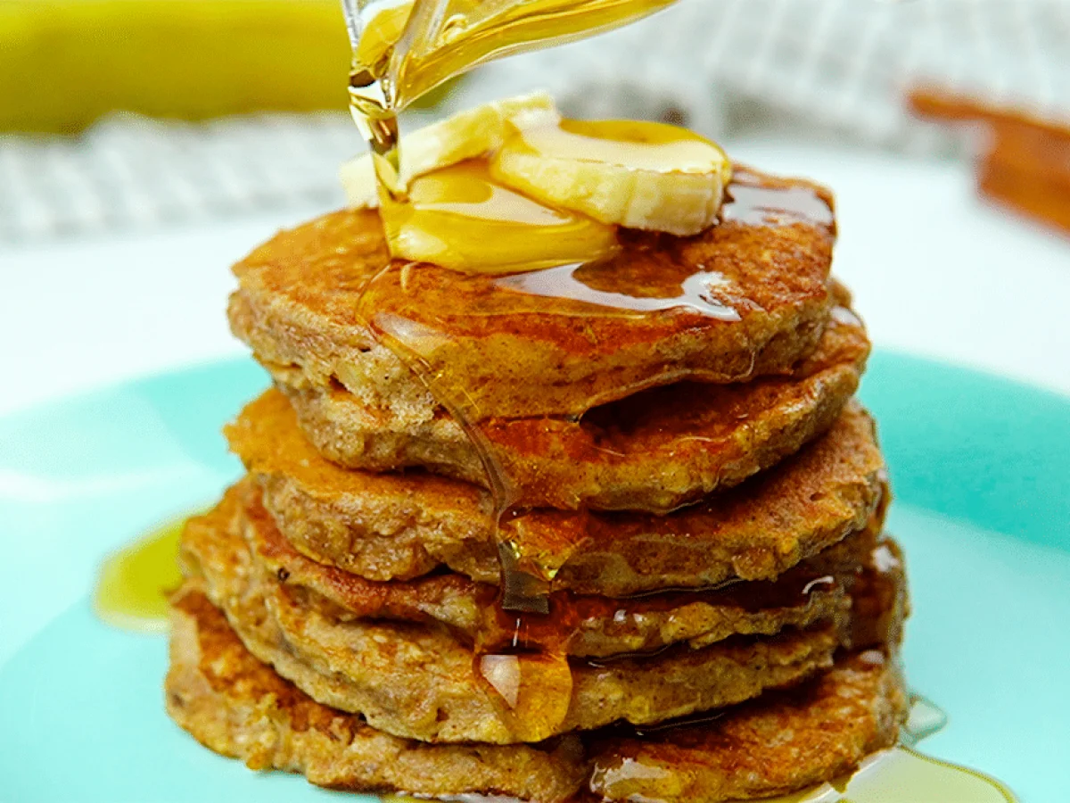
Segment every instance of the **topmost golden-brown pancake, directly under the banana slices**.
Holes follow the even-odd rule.
[[[336,212],[234,267],[231,328],[288,384],[340,383],[404,427],[426,424],[434,402],[368,320],[404,330],[421,360],[461,378],[480,418],[577,415],[686,378],[783,374],[828,316],[831,195],[745,168],[728,192],[721,223],[701,234],[622,232],[616,258],[552,276],[384,270],[378,214]],[[594,301],[561,298],[562,286]]]

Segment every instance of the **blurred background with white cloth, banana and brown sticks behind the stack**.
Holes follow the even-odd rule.
[[[0,3],[0,411],[241,353],[228,266],[364,148],[348,66],[335,0]],[[679,0],[404,124],[536,88],[829,184],[878,346],[1070,393],[1068,0]]]

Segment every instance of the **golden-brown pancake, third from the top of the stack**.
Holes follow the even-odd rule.
[[[373,580],[446,565],[498,584],[490,495],[409,471],[347,471],[324,459],[277,391],[226,429],[282,534],[307,557]],[[860,529],[876,509],[884,459],[852,403],[827,435],[731,490],[669,516],[529,514],[513,533],[556,569],[554,587],[624,596],[658,588],[771,579]]]

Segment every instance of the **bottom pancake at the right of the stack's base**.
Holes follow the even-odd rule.
[[[769,692],[716,722],[593,748],[596,800],[716,803],[786,794],[850,773],[895,744],[907,697],[878,650],[837,661],[789,692]]]

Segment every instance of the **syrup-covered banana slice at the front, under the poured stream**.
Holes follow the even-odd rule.
[[[484,160],[413,179],[383,228],[395,258],[464,273],[519,273],[614,254],[616,227],[544,207],[491,180]]]

